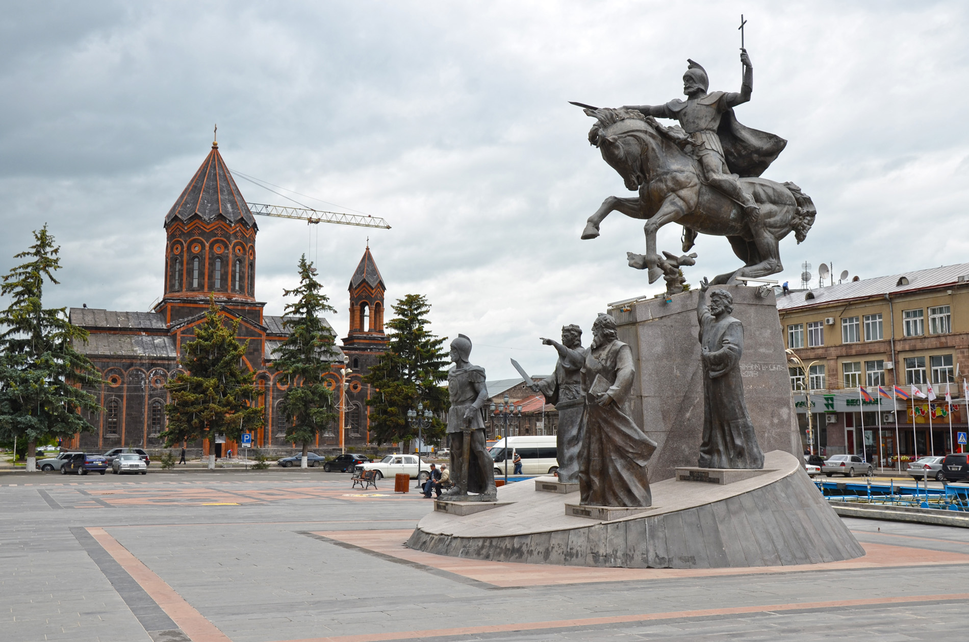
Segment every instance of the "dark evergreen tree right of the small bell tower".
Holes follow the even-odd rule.
[[[409,294],[392,307],[397,316],[387,324],[388,350],[363,377],[375,390],[367,400],[372,408],[370,432],[378,443],[413,439],[418,427],[411,425],[407,411],[422,402],[435,415],[423,438],[439,443],[447,428],[441,416],[450,403],[447,388],[439,385],[448,378],[450,362],[442,348],[447,338],[427,329],[430,304],[422,295]]]

